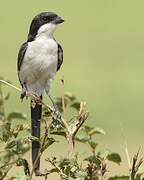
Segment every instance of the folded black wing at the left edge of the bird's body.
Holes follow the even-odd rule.
[[[17,61],[17,70],[20,71],[23,59],[24,59],[24,55],[26,53],[28,47],[28,43],[25,42],[21,45],[19,53],[18,53],[18,61]]]

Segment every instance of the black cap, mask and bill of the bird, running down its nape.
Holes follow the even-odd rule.
[[[44,24],[60,24],[63,22],[64,20],[53,12],[42,12],[38,14],[33,18],[31,22],[27,41],[33,41],[37,35],[39,28]]]

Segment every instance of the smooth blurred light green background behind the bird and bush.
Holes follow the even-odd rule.
[[[65,89],[87,101],[89,123],[103,127],[99,140],[106,148],[130,153],[143,146],[144,136],[144,1],[43,0],[8,1],[0,5],[0,75],[19,86],[16,61],[32,18],[57,12],[65,23],[55,32],[64,49],[64,64],[52,84],[52,96]],[[13,89],[8,110],[28,114]]]

